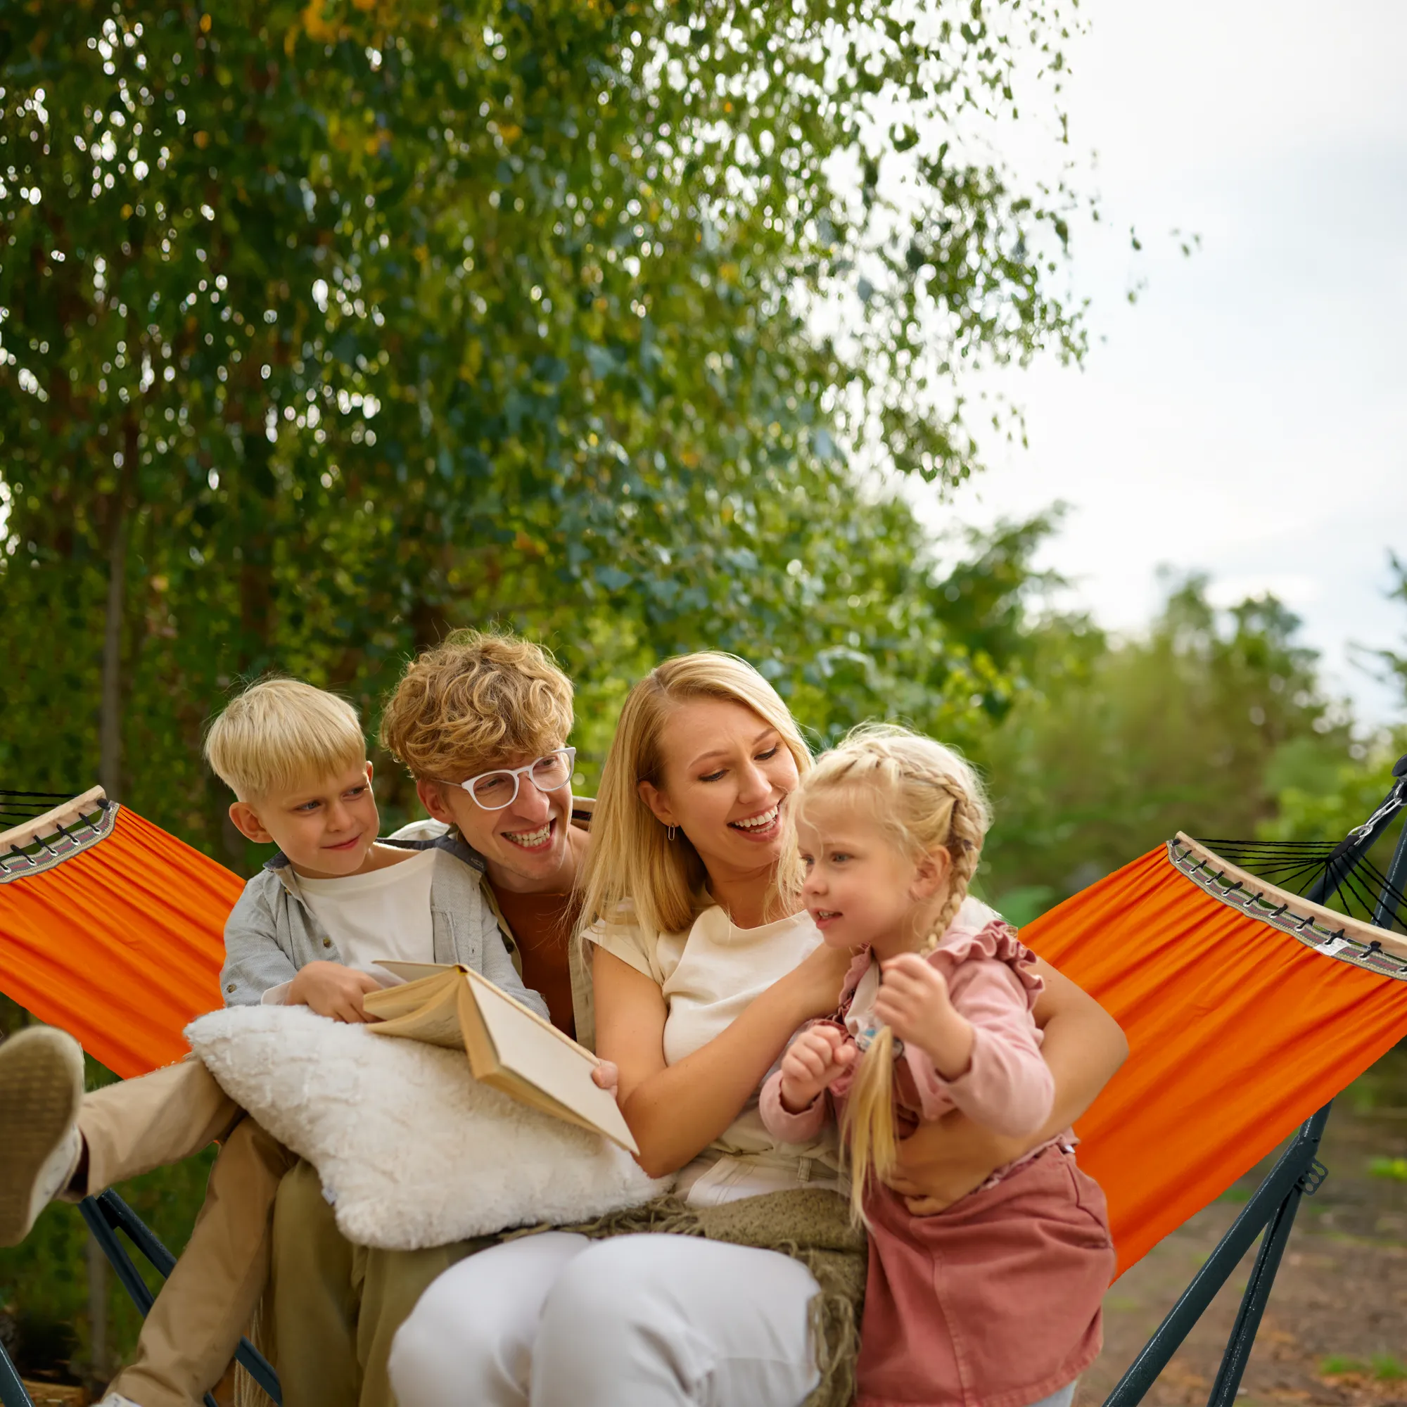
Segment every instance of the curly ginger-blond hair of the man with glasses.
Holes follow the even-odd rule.
[[[456,630],[412,660],[381,715],[381,746],[425,781],[463,781],[570,733],[571,680],[552,654],[485,630]]]

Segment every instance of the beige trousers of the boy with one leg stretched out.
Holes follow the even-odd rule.
[[[196,1059],[86,1095],[79,1133],[87,1175],[79,1196],[180,1162],[217,1140],[205,1204],[184,1255],[156,1296],[136,1356],[111,1392],[139,1407],[193,1407],[229,1368],[269,1278],[269,1224],[294,1164]]]

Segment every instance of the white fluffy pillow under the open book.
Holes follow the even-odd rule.
[[[409,1251],[649,1202],[615,1144],[480,1085],[459,1051],[305,1006],[236,1006],[186,1029],[221,1089],[322,1178],[342,1234]]]

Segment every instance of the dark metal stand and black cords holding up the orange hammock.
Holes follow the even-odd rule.
[[[1368,853],[1373,844],[1399,813],[1407,810],[1407,757],[1399,758],[1393,778],[1393,787],[1377,810],[1337,846],[1280,846],[1230,840],[1207,840],[1204,844],[1216,850],[1228,864],[1242,861],[1245,868],[1263,875],[1268,884],[1273,882],[1278,888],[1301,885],[1303,888],[1296,888],[1296,892],[1311,903],[1337,902],[1349,917],[1363,916],[1373,927],[1386,931],[1392,931],[1394,926],[1407,931],[1407,899],[1404,899],[1407,826],[1403,827],[1386,874],[1368,862]],[[66,799],[34,792],[0,792],[0,820],[10,820],[11,825],[28,820]],[[1206,868],[1206,864],[1199,868]],[[1244,871],[1238,871],[1238,875],[1244,875]],[[1213,879],[1225,877],[1228,889],[1245,885],[1244,878],[1225,875],[1224,871],[1213,870],[1210,877]],[[1256,896],[1252,893],[1248,898]],[[1376,944],[1370,943],[1368,947],[1370,955]],[[1251,1195],[1192,1283],[1130,1363],[1104,1400],[1104,1407],[1137,1407],[1142,1401],[1193,1325],[1231,1278],[1241,1258],[1263,1233],[1255,1266],[1241,1296],[1241,1306],[1207,1399],[1207,1407],[1235,1407],[1241,1379],[1251,1359],[1255,1335],[1294,1227],[1300,1200],[1313,1196],[1328,1176],[1328,1171],[1318,1161],[1318,1147],[1331,1107],[1332,1102],[1300,1126],[1299,1133]],[[115,1192],[108,1190],[97,1197],[84,1199],[79,1203],[79,1211],[124,1289],[145,1317],[155,1296],[146,1287],[117,1233],[121,1231],[128,1237],[163,1279],[170,1275],[176,1258]],[[249,1339],[241,1341],[235,1361],[281,1407],[279,1375]],[[0,1344],[0,1407],[34,1407],[34,1400],[3,1344]],[[215,1407],[215,1400],[208,1393],[205,1407]]]

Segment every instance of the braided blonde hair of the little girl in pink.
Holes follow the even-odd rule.
[[[896,848],[919,861],[937,848],[951,857],[948,889],[920,951],[931,953],[957,917],[976,874],[982,840],[991,825],[986,796],[972,767],[951,747],[888,723],[865,723],[823,753],[788,806],[788,847],[779,879],[782,892],[799,896],[801,862],[796,823],[809,801],[848,792],[872,810]],[[851,1210],[862,1218],[871,1178],[892,1175],[898,1158],[893,1123],[893,1033],[881,1027],[860,1058],[846,1104]]]

